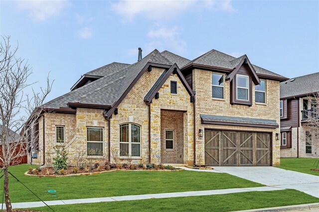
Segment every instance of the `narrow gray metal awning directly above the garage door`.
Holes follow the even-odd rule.
[[[262,128],[279,128],[276,120],[200,114],[201,123]]]

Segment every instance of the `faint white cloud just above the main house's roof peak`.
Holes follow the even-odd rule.
[[[186,51],[186,42],[180,38],[181,28],[174,26],[171,28],[162,26],[155,30],[150,30],[147,36],[152,39],[146,46],[146,51],[150,52],[155,48],[159,50],[170,49],[176,53]]]

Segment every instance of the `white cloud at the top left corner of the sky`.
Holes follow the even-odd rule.
[[[17,8],[26,10],[34,21],[46,21],[50,17],[60,15],[69,2],[66,0],[28,0],[16,1]]]

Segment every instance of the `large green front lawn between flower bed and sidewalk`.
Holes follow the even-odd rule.
[[[112,197],[168,192],[201,191],[215,189],[245,188],[263,186],[225,173],[194,171],[148,172],[118,171],[98,175],[38,178],[24,176],[28,165],[9,168],[22,183],[43,200],[66,200],[95,197]],[[3,186],[3,178],[0,188]],[[55,197],[47,190],[56,190]],[[14,178],[9,178],[9,192],[12,203],[39,201]],[[0,190],[2,194],[2,190]]]

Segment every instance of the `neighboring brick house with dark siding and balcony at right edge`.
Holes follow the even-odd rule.
[[[319,72],[280,83],[281,157],[319,157],[319,133],[309,126],[314,94],[319,92]]]

